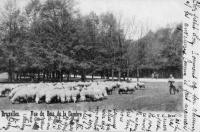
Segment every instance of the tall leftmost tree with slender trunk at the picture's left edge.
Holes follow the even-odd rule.
[[[17,9],[16,2],[13,0],[7,1],[4,7],[4,11],[1,14],[1,44],[3,48],[3,54],[5,56],[6,70],[8,71],[9,81],[14,80],[14,71],[16,65],[16,54],[20,39],[20,10]]]

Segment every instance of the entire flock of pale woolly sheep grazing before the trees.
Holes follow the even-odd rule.
[[[1,96],[8,96],[12,103],[69,103],[98,101],[111,95],[115,89],[119,94],[133,93],[145,88],[144,83],[127,82],[68,82],[37,84],[2,84]]]

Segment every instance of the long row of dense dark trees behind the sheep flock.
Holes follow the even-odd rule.
[[[137,41],[112,13],[82,16],[73,0],[31,0],[20,10],[12,0],[0,21],[0,70],[9,81],[63,81],[63,75],[107,78],[142,69],[182,67],[182,26],[149,32]],[[179,74],[179,73],[178,73]]]

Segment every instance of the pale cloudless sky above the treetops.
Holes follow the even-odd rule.
[[[1,0],[0,8],[6,0]],[[16,0],[18,6],[24,7],[29,0]],[[91,11],[97,15],[112,12],[127,32],[131,34],[130,25],[136,23],[138,29],[156,31],[167,25],[181,23],[183,20],[182,0],[75,0],[82,15]],[[129,30],[129,31],[128,31]]]

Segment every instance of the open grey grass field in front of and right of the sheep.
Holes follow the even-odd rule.
[[[17,110],[53,110],[53,109],[78,109],[87,110],[89,108],[120,110],[134,109],[141,111],[182,111],[182,92],[175,95],[169,94],[167,82],[147,82],[146,89],[137,90],[133,94],[119,95],[114,91],[107,99],[97,102],[78,102],[78,103],[57,103],[57,104],[11,104],[7,97],[0,97],[0,109]],[[181,82],[176,83],[181,85]]]

